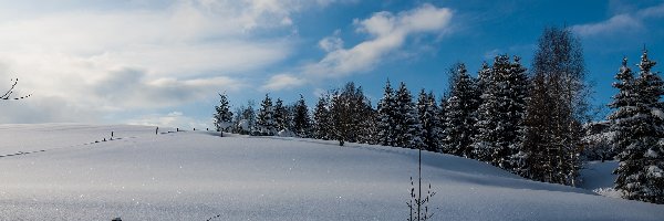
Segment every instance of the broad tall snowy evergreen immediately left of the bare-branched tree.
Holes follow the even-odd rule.
[[[474,137],[477,158],[491,165],[516,171],[518,151],[523,133],[526,92],[528,77],[519,57],[510,63],[509,56],[499,55],[490,73],[484,69],[485,91],[475,124],[478,134]]]

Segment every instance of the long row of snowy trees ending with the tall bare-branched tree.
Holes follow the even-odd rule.
[[[266,95],[258,112],[241,106],[235,117],[226,95],[217,129],[251,135],[423,148],[478,159],[533,180],[574,186],[582,149],[584,67],[579,41],[567,29],[546,29],[530,76],[520,59],[496,56],[477,77],[463,63],[450,70],[449,88],[436,99],[390,81],[376,108],[361,86],[347,83],[322,95],[312,116],[303,97],[294,105]]]

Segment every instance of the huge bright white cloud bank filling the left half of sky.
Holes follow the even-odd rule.
[[[17,92],[34,94],[3,104],[0,123],[100,122],[248,88],[292,51],[264,31],[295,29],[294,13],[328,3],[0,0],[0,82],[19,77]]]

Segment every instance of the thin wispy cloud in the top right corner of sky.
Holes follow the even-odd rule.
[[[626,33],[643,29],[644,21],[664,17],[664,3],[637,10],[634,13],[620,13],[596,23],[577,24],[571,29],[581,36],[600,36],[610,33]]]

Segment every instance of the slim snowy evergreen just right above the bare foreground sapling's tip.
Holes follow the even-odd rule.
[[[419,92],[417,98],[417,113],[419,116],[419,123],[422,124],[422,141],[424,143],[423,149],[429,151],[438,150],[438,137],[439,135],[439,120],[438,120],[438,105],[433,93],[426,94],[424,90]]]

